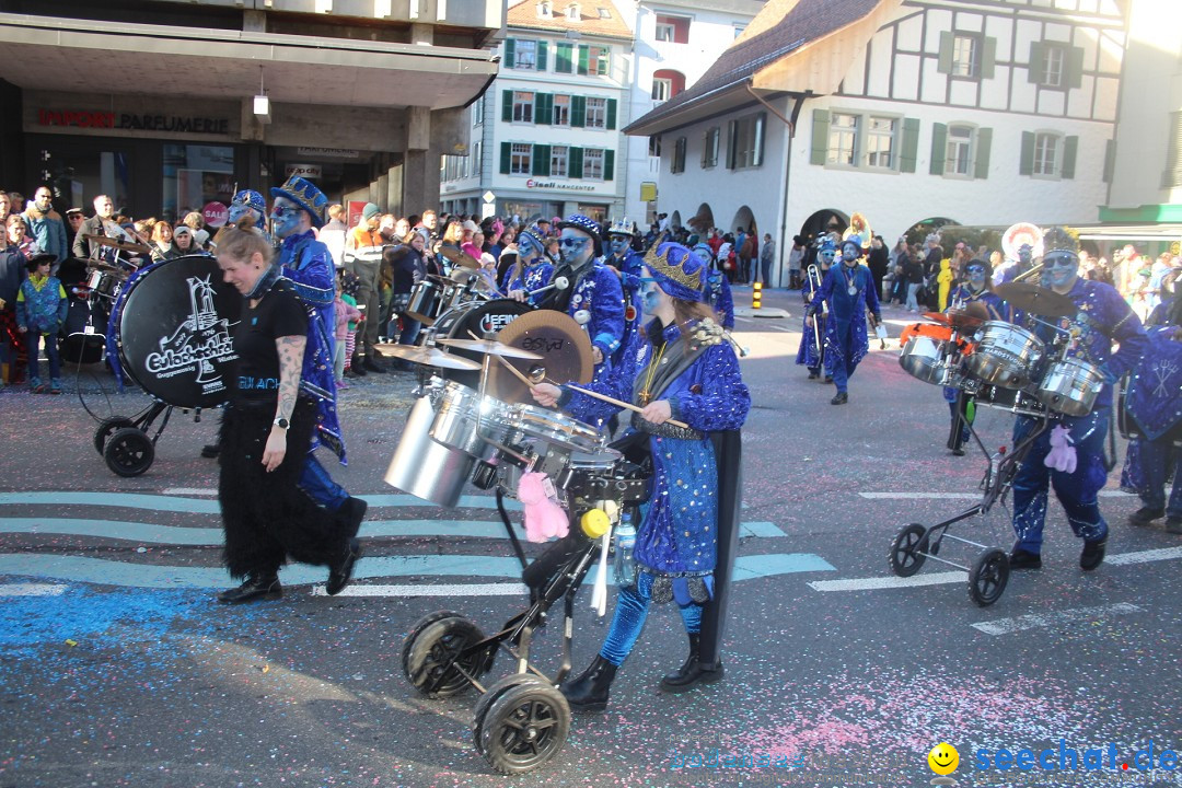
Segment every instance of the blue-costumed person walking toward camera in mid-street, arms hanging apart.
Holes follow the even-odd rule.
[[[821,302],[829,304],[829,317],[825,318],[825,372],[837,386],[837,393],[829,400],[832,405],[850,402],[850,378],[858,367],[858,362],[870,351],[866,310],[875,315],[875,323],[882,323],[875,279],[870,269],[858,262],[860,258],[862,239],[851,235],[842,241],[842,265],[829,269],[825,281],[808,305],[808,317],[805,318],[805,325],[812,325]]]

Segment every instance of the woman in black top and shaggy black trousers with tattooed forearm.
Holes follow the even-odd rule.
[[[310,317],[258,230],[230,229],[217,266],[246,297],[234,331],[238,385],[222,418],[217,484],[226,566],[243,581],[217,599],[280,597],[278,572],[288,558],[327,566],[326,591],[340,593],[361,555],[357,528],[343,526],[298,484],[317,426],[317,402],[300,386]]]

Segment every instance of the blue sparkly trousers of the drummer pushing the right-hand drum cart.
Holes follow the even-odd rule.
[[[1019,547],[1028,553],[1043,552],[1043,526],[1046,522],[1048,487],[1054,488],[1067,513],[1067,523],[1077,536],[1086,541],[1108,538],[1108,523],[1100,515],[1096,494],[1108,481],[1104,470],[1104,437],[1108,434],[1109,415],[1100,408],[1079,419],[1069,419],[1071,438],[1076,445],[1076,470],[1065,474],[1047,468],[1043,461],[1051,451],[1051,430],[1046,430],[1031,447],[1014,477],[1014,534]],[[1014,423],[1014,445],[1034,429],[1034,419],[1019,416]],[[1053,428],[1052,428],[1053,429]]]

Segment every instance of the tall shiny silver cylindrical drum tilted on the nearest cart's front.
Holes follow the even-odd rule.
[[[385,471],[385,483],[403,493],[454,507],[476,458],[431,439],[435,409],[430,397],[420,397],[410,409],[402,441]]]

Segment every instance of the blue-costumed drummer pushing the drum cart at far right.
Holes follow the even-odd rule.
[[[1018,541],[1009,554],[1009,567],[1041,568],[1047,491],[1053,486],[1071,529],[1084,540],[1079,566],[1091,571],[1104,561],[1108,546],[1108,523],[1100,514],[1096,494],[1108,481],[1104,437],[1112,409],[1111,384],[1136,366],[1148,341],[1141,320],[1115,287],[1079,276],[1074,239],[1061,228],[1051,228],[1043,236],[1043,242],[1047,250],[1043,258],[1044,272],[1051,289],[1070,298],[1077,308],[1073,318],[1064,318],[1058,326],[1072,333],[1067,356],[1098,367],[1105,385],[1086,416],[1057,416],[1053,419],[1054,425],[1070,430],[1067,437],[1072,445],[1069,450],[1076,452],[1072,473],[1048,468],[1044,462],[1051,451],[1052,429],[1035,438],[1018,469],[1013,484],[1013,527]],[[1054,330],[1043,323],[1031,324],[1034,333],[1050,347]],[[1113,340],[1121,346],[1116,353],[1112,352]],[[1014,444],[1025,441],[1037,424],[1038,421],[1032,417],[1019,416],[1014,423]]]

